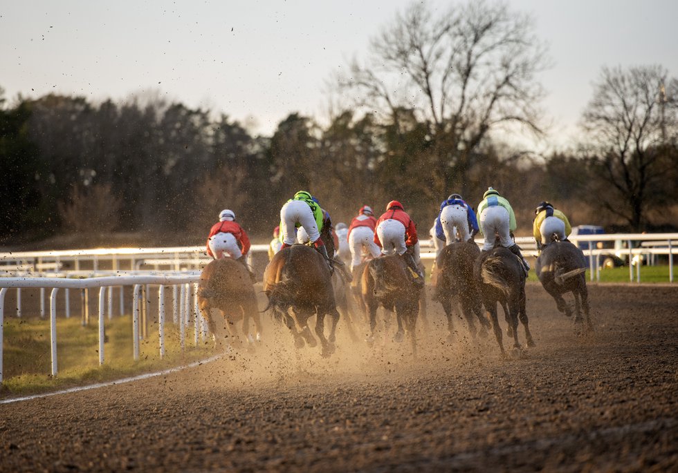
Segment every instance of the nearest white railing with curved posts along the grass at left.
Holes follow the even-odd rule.
[[[0,284],[0,383],[3,380],[3,340],[4,340],[4,331],[3,331],[3,322],[4,322],[4,306],[5,306],[5,295],[9,288],[39,288],[39,289],[52,289],[50,297],[50,345],[51,345],[51,371],[52,376],[57,374],[57,325],[56,325],[56,316],[57,316],[57,303],[56,296],[59,289],[92,289],[99,288],[99,364],[104,363],[104,316],[105,316],[105,294],[108,287],[112,286],[129,286],[134,285],[134,307],[132,310],[132,320],[133,320],[133,337],[134,337],[134,359],[138,360],[139,358],[139,287],[140,284],[154,284],[159,286],[158,293],[161,294],[159,297],[159,309],[158,309],[158,332],[160,338],[160,356],[161,358],[165,354],[165,286],[181,284],[183,287],[186,287],[187,284],[194,284],[198,282],[200,276],[196,273],[189,273],[184,276],[107,276],[103,278],[89,278],[89,279],[65,279],[65,278],[1,278]],[[197,289],[194,289],[196,293]],[[188,302],[185,302],[182,306],[186,309],[189,307]],[[181,320],[187,320],[187,313],[181,313]],[[196,316],[194,320],[202,322],[201,317]],[[200,328],[196,327],[196,331]],[[182,332],[183,333],[183,332]],[[184,347],[184,341],[180,340],[181,347]]]

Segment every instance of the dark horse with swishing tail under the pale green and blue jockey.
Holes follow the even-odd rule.
[[[518,319],[525,329],[527,345],[535,345],[530,333],[525,311],[525,271],[522,262],[510,250],[497,246],[482,253],[475,261],[474,275],[480,282],[479,291],[483,305],[492,320],[497,343],[506,356],[502,343],[502,329],[497,320],[497,302],[506,310],[508,336],[513,336],[513,347],[520,349],[518,342]]]

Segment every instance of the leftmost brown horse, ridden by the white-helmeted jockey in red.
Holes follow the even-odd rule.
[[[240,321],[242,334],[249,342],[261,337],[257,296],[249,271],[240,262],[222,258],[205,266],[198,283],[198,307],[219,343],[229,335],[239,342],[235,325]],[[221,316],[215,316],[214,311]],[[249,331],[250,318],[257,329],[255,336]]]

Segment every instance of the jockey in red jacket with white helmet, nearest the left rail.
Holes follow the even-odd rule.
[[[227,253],[231,258],[244,264],[254,279],[254,273],[248,268],[246,258],[250,251],[250,239],[244,229],[235,222],[235,213],[223,209],[219,213],[219,222],[212,225],[207,238],[207,253],[215,260],[225,258]]]

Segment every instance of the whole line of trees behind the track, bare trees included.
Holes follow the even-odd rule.
[[[334,222],[401,200],[424,234],[450,193],[475,206],[488,186],[512,202],[518,233],[540,200],[573,224],[675,224],[678,81],[661,66],[603,68],[583,139],[535,156],[501,137],[543,135],[535,75],[547,63],[531,19],[503,3],[443,15],[414,3],[333,78],[327,124],[292,113],[270,137],[161,99],[10,104],[0,89],[0,244],[113,233],[196,244],[223,208],[264,238],[301,189]]]

